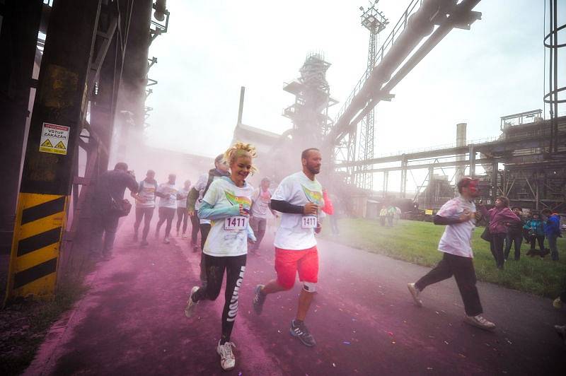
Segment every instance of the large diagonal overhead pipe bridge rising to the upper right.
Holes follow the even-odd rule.
[[[423,1],[410,0],[408,7],[381,48],[376,52],[376,61],[371,71],[366,70],[352,93],[335,117],[335,124],[326,143],[332,148],[343,148],[342,139],[352,139],[358,124],[366,119],[369,112],[381,100],[391,100],[391,90],[454,28],[469,30],[470,25],[481,18],[481,13],[471,11],[480,0]],[[363,18],[363,15],[362,15]],[[363,24],[363,23],[362,23]],[[437,26],[437,27],[436,27]],[[435,28],[436,27],[436,28]],[[425,39],[426,38],[426,39]],[[368,134],[373,128],[366,119],[364,127],[364,152],[369,144]],[[350,159],[349,162],[354,162]],[[360,165],[366,165],[361,163]],[[339,168],[339,166],[336,166]],[[356,172],[364,175],[369,171],[359,168]],[[366,180],[362,178],[363,184]]]

